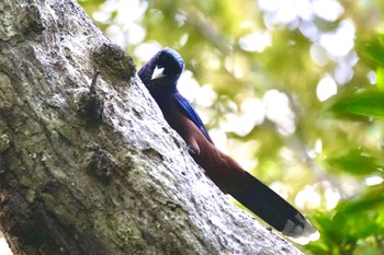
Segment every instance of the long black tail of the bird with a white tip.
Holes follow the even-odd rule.
[[[259,179],[247,175],[251,185],[244,193],[230,194],[236,200],[297,243],[319,239],[318,231],[300,211]]]

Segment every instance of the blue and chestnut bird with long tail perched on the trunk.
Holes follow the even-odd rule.
[[[191,103],[177,84],[184,60],[171,48],[162,48],[137,72],[169,126],[185,141],[193,160],[224,193],[296,243],[319,239],[319,232],[292,205],[218,150]]]

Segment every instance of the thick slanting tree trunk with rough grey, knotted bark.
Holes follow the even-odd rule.
[[[72,0],[0,2],[0,225],[14,254],[300,254],[206,178]]]

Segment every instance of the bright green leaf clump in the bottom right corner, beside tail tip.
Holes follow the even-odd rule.
[[[354,251],[369,246],[372,254],[381,254],[383,215],[384,185],[369,187],[361,195],[340,202],[335,210],[317,213],[314,220],[321,239],[307,245],[307,250],[314,254],[363,254]]]

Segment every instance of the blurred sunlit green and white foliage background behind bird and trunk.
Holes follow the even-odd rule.
[[[384,254],[381,0],[79,0],[138,68],[162,47],[215,143],[301,209],[306,254]]]

